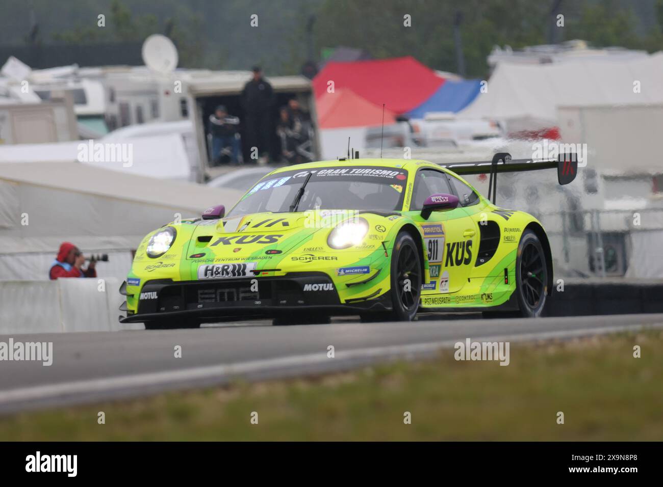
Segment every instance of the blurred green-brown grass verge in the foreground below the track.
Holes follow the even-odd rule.
[[[0,440],[660,441],[662,350],[662,331],[511,344],[509,366],[457,362],[448,350],[426,362],[0,417]]]

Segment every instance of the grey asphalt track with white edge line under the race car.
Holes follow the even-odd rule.
[[[15,342],[53,343],[53,363],[0,362],[0,413],[226,384],[322,374],[396,358],[419,359],[457,341],[571,339],[663,328],[663,314],[476,319],[424,315],[412,323],[274,327],[271,321],[222,323],[188,330],[11,335]],[[0,341],[9,341],[0,335]],[[182,347],[175,358],[176,346]],[[328,347],[334,347],[333,358]],[[517,356],[511,354],[511,362]]]

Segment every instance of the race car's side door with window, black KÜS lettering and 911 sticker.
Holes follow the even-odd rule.
[[[422,294],[461,290],[467,283],[477,252],[476,225],[463,207],[433,211],[428,219],[421,216],[426,198],[441,193],[454,194],[445,172],[434,168],[417,171],[408,215],[424,233],[429,272]]]

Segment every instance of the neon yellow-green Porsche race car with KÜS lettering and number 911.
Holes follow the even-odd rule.
[[[557,168],[574,158],[452,164],[351,159],[274,170],[225,213],[170,223],[139,245],[121,287],[123,323],[147,328],[330,315],[412,320],[421,311],[540,316],[552,255],[532,215],[494,204],[497,174]],[[490,173],[489,198],[460,174]]]

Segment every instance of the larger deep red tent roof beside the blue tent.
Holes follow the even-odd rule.
[[[316,98],[328,93],[333,81],[335,91],[349,88],[371,103],[394,113],[418,107],[444,83],[433,70],[416,59],[377,59],[353,62],[329,62],[313,79]]]

